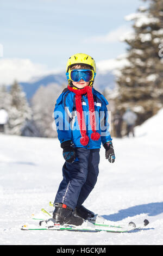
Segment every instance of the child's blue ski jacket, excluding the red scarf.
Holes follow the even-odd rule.
[[[105,97],[92,88],[93,100],[95,104],[96,113],[96,131],[101,135],[98,141],[91,139],[91,125],[89,118],[89,103],[86,95],[82,96],[82,107],[86,125],[86,134],[89,136],[89,143],[84,146],[80,143],[81,133],[78,124],[77,110],[76,110],[76,94],[70,90],[64,90],[58,97],[54,108],[54,119],[58,132],[58,139],[60,143],[64,141],[72,141],[74,147],[97,149],[101,148],[101,143],[111,141],[108,123],[108,101]]]

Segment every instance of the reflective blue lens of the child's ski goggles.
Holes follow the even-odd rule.
[[[85,82],[90,82],[93,78],[92,70],[72,70],[71,71],[71,80],[74,82],[79,82],[83,79]]]

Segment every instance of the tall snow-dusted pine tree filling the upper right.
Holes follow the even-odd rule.
[[[163,2],[144,0],[148,7],[140,7],[127,20],[134,21],[133,33],[126,36],[129,65],[117,77],[116,109],[130,107],[138,114],[137,124],[156,114],[163,105],[163,69],[159,54],[163,43]]]

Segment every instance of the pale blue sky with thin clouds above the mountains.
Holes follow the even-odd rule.
[[[96,62],[126,50],[117,36],[131,28],[124,16],[140,0],[1,0],[2,59],[29,59],[46,70],[64,69],[68,57],[90,54]]]

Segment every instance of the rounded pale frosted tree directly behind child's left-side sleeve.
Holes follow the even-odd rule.
[[[53,112],[61,89],[58,84],[41,86],[32,98],[33,120],[42,137],[57,137]]]

